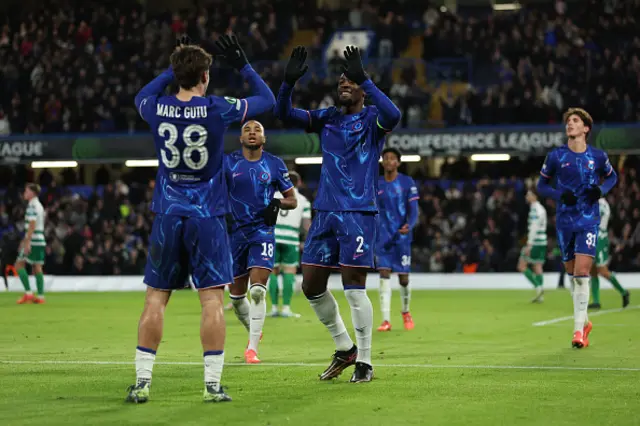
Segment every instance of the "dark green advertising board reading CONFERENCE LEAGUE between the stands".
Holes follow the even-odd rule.
[[[609,152],[640,152],[640,125],[596,127],[590,143]],[[225,136],[225,151],[240,148],[239,133]],[[404,154],[423,156],[469,155],[504,152],[544,155],[565,143],[558,126],[461,127],[453,129],[398,130],[387,145]],[[283,158],[317,156],[318,135],[300,131],[267,131],[267,150]],[[0,138],[0,164],[37,160],[121,163],[156,158],[153,137],[140,134],[20,135]]]

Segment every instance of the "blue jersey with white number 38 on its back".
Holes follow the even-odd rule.
[[[195,96],[149,96],[138,108],[149,123],[158,157],[151,210],[186,217],[222,216],[228,191],[224,133],[247,114],[247,100]]]

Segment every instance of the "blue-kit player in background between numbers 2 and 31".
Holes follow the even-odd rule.
[[[384,176],[378,181],[378,242],[376,267],[380,272],[380,311],[382,324],[378,331],[391,331],[391,273],[398,274],[402,321],[406,330],[413,330],[409,312],[411,289],[411,230],[418,221],[418,188],[407,175],[398,173],[401,154],[395,148],[382,151]]]

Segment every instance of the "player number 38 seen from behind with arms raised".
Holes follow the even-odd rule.
[[[204,400],[231,400],[220,387],[225,340],[223,289],[233,280],[224,218],[228,192],[223,136],[232,122],[272,109],[275,99],[235,37],[222,36],[216,46],[249,82],[253,96],[206,96],[212,57],[202,48],[184,43],[171,55],[171,67],[135,98],[138,112],[154,135],[159,167],[151,203],[155,219],[144,273],[147,293],[138,327],[136,384],[129,388],[129,402],[149,398],[165,308],[171,291],[188,285],[189,274],[202,306]],[[174,80],[180,86],[178,93],[165,95]]]

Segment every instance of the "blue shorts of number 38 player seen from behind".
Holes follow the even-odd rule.
[[[157,214],[149,238],[144,283],[159,290],[221,287],[233,281],[224,217]]]

